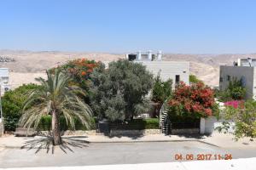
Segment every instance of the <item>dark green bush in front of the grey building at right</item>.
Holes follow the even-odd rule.
[[[237,80],[236,77],[232,78],[226,90],[216,92],[216,97],[223,102],[230,100],[241,100],[245,98],[245,95],[246,88],[242,86],[241,79]]]

